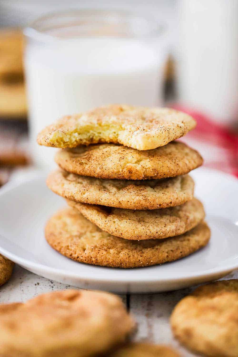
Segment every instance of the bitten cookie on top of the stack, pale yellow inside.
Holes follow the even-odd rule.
[[[174,109],[114,104],[64,116],[43,129],[37,142],[60,148],[111,142],[150,150],[184,136],[195,126],[191,116]]]

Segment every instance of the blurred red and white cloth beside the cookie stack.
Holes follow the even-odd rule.
[[[188,113],[197,126],[182,141],[197,149],[204,158],[204,166],[228,172],[238,177],[238,134],[213,122],[200,112],[173,105],[174,109]]]

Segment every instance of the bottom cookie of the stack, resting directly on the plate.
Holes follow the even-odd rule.
[[[45,227],[49,245],[81,263],[118,268],[162,264],[196,252],[207,245],[210,230],[199,223],[183,235],[164,240],[134,241],[102,231],[73,208],[64,208]]]

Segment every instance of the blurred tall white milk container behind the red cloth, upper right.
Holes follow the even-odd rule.
[[[238,118],[238,1],[180,0],[179,99],[219,124]]]

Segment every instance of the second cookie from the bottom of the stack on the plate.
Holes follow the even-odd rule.
[[[67,203],[103,231],[132,240],[178,236],[197,226],[205,217],[203,205],[196,198],[181,206],[136,211],[72,200]]]

